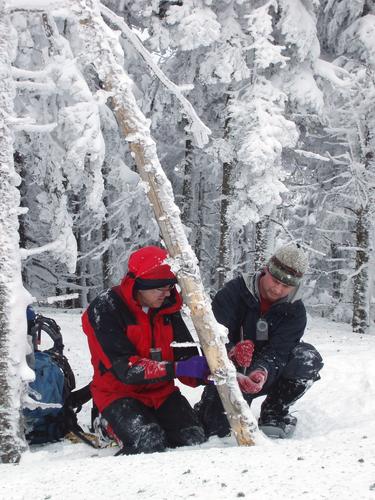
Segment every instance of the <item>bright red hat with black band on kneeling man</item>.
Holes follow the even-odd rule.
[[[155,246],[143,247],[129,257],[128,275],[135,278],[135,288],[149,290],[177,283],[176,275],[165,263],[168,253]]]

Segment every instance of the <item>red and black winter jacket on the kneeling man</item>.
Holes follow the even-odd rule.
[[[102,292],[82,316],[94,367],[91,392],[100,412],[124,397],[158,408],[178,390],[174,385],[174,361],[198,354],[194,347],[170,345],[173,341],[193,340],[179,313],[182,299],[175,288],[161,308],[150,309],[148,313],[134,300],[137,277],[159,278],[152,275],[151,268],[152,259],[130,258],[129,273],[121,285]],[[166,277],[166,271],[162,278]],[[151,347],[161,348],[165,363],[150,360]],[[189,377],[181,381],[193,387],[199,383]]]

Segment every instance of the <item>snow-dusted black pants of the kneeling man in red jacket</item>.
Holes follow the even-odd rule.
[[[179,391],[157,409],[134,398],[118,399],[104,409],[103,417],[123,445],[121,454],[153,453],[206,441],[195,411]]]

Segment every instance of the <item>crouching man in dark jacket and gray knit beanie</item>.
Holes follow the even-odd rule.
[[[323,366],[318,351],[301,342],[306,311],[297,293],[307,267],[303,250],[285,245],[260,272],[226,283],[212,303],[217,321],[228,328],[228,356],[245,399],[250,405],[267,395],[259,427],[271,437],[292,435],[297,419],[290,407],[320,378]],[[207,436],[229,433],[214,386],[204,389],[196,409]]]

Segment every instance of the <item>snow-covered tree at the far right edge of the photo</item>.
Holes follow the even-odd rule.
[[[374,14],[372,2],[325,2],[321,30],[327,53],[351,80],[340,92],[331,89],[328,105],[330,132],[341,145],[336,158],[345,179],[335,202],[349,232],[346,243],[335,245],[341,243],[349,254],[341,268],[342,287],[344,300],[353,304],[352,326],[358,333],[368,332],[373,290],[375,57],[369,34],[375,32]]]

